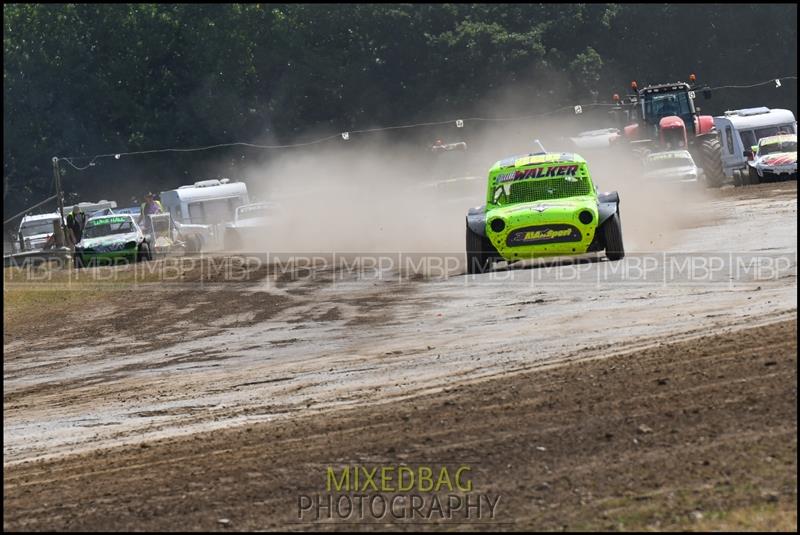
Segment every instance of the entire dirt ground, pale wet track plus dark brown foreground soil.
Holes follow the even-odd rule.
[[[317,528],[326,463],[423,462],[489,528],[796,529],[796,182],[702,214],[618,264],[7,278],[4,528]]]

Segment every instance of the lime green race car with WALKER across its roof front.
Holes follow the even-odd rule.
[[[598,193],[586,160],[572,153],[506,158],[489,170],[486,204],[467,214],[467,272],[495,260],[605,250],[625,256],[617,192]]]

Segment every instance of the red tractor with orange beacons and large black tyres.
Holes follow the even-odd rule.
[[[631,82],[633,94],[621,101],[614,95],[612,110],[623,132],[622,139],[644,152],[653,150],[687,149],[697,164],[703,168],[706,183],[719,187],[725,179],[722,170],[720,143],[714,118],[698,115],[695,108],[695,91],[703,91],[706,98],[710,90],[695,83],[695,75],[686,82],[659,84],[639,89]]]

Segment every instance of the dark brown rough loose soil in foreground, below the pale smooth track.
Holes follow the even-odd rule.
[[[6,470],[4,527],[319,528],[331,520],[301,516],[298,496],[324,491],[326,466],[461,460],[476,491],[500,496],[490,526],[461,529],[692,528],[742,508],[786,511],[788,524],[750,527],[787,529],[796,352],[796,323],[782,322],[411,401],[26,463]]]

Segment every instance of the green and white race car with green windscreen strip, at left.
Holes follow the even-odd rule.
[[[75,245],[76,268],[152,260],[150,239],[128,214],[96,216],[86,222]]]

